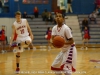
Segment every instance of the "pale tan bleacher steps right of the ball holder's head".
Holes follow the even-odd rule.
[[[78,22],[77,15],[67,16],[68,19],[65,20],[66,25],[72,28],[73,38],[76,44],[82,44],[82,35]]]

